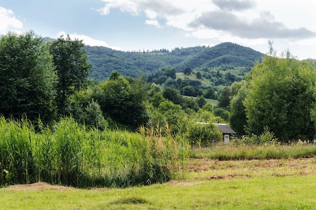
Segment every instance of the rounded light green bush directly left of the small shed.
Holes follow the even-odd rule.
[[[210,123],[190,123],[186,137],[191,145],[209,146],[219,142],[223,138],[222,132]]]

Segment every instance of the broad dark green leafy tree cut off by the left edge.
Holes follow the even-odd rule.
[[[54,117],[57,75],[42,38],[30,31],[0,39],[0,113],[48,122]]]

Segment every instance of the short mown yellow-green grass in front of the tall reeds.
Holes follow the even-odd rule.
[[[46,183],[0,189],[1,209],[315,209],[316,158],[190,159],[164,184],[76,189]]]

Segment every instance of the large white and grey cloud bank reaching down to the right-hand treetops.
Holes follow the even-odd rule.
[[[268,40],[274,39],[281,49],[297,46],[295,50],[302,55],[306,47],[311,51],[316,42],[314,0],[102,1],[107,14],[117,9],[144,16],[145,24],[178,29],[178,34],[190,40],[230,41],[266,51]]]

